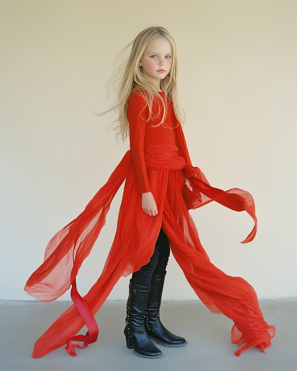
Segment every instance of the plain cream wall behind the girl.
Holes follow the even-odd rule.
[[[176,41],[190,155],[211,185],[249,191],[251,218],[214,202],[191,211],[211,261],[259,298],[296,289],[296,0],[2,0],[0,299],[23,291],[49,239],[105,184],[129,144],[106,129],[106,84],[119,51],[144,28]],[[116,230],[121,192],[78,275],[97,280]],[[121,278],[110,299],[125,299]],[[61,297],[68,299],[69,291]],[[173,256],[163,298],[197,299]]]

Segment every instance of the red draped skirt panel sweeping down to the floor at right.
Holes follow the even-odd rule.
[[[172,253],[207,308],[213,313],[223,313],[234,321],[232,342],[239,345],[246,343],[235,354],[240,356],[252,346],[263,351],[271,345],[275,327],[264,321],[256,293],[245,279],[228,276],[210,263],[183,202],[180,192],[182,184],[183,174],[169,172],[162,228],[169,239]]]

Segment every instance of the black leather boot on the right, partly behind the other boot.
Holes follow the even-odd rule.
[[[160,321],[160,305],[165,276],[166,273],[163,275],[152,275],[151,277],[145,327],[151,339],[168,347],[179,347],[187,344],[186,339],[168,331]]]

